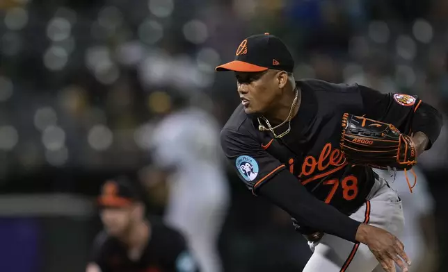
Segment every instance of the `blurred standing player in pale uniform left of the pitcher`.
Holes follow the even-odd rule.
[[[143,183],[150,190],[166,184],[165,222],[184,233],[201,271],[220,272],[217,242],[230,201],[220,126],[179,92],[170,101],[152,134],[153,165]]]

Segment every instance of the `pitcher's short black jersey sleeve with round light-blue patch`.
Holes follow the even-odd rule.
[[[254,194],[260,185],[285,168],[285,164],[266,152],[255,137],[245,133],[221,130],[221,146],[231,167]]]

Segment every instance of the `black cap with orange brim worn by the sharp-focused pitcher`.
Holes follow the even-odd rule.
[[[294,60],[287,46],[269,33],[247,37],[239,44],[235,60],[216,67],[216,71],[257,72],[276,69],[292,72]]]

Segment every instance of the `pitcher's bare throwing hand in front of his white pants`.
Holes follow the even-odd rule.
[[[361,224],[358,232],[356,232],[356,241],[369,247],[376,260],[383,266],[384,271],[395,272],[394,263],[397,263],[403,272],[408,272],[410,260],[404,252],[404,245],[390,232],[371,225]]]

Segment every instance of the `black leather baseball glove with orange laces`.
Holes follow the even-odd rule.
[[[344,113],[341,151],[350,164],[379,169],[410,169],[416,161],[415,146],[408,135],[392,124]]]

